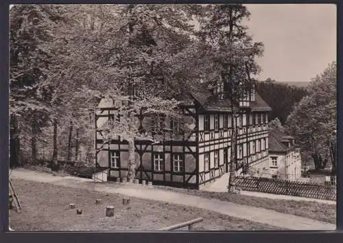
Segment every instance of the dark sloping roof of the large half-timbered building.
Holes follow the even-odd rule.
[[[191,96],[204,108],[206,111],[231,111],[231,102],[229,99],[217,99],[204,84],[189,91]],[[250,108],[252,111],[272,111],[272,108],[261,98],[256,92],[255,102],[251,102]]]

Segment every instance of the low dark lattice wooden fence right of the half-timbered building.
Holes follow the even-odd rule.
[[[235,185],[237,189],[242,191],[336,200],[335,185],[244,176],[237,176],[235,178]]]

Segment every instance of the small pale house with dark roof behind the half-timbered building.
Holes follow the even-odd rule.
[[[269,170],[266,177],[289,181],[300,180],[300,149],[296,147],[294,138],[275,129],[270,129],[269,137]]]

